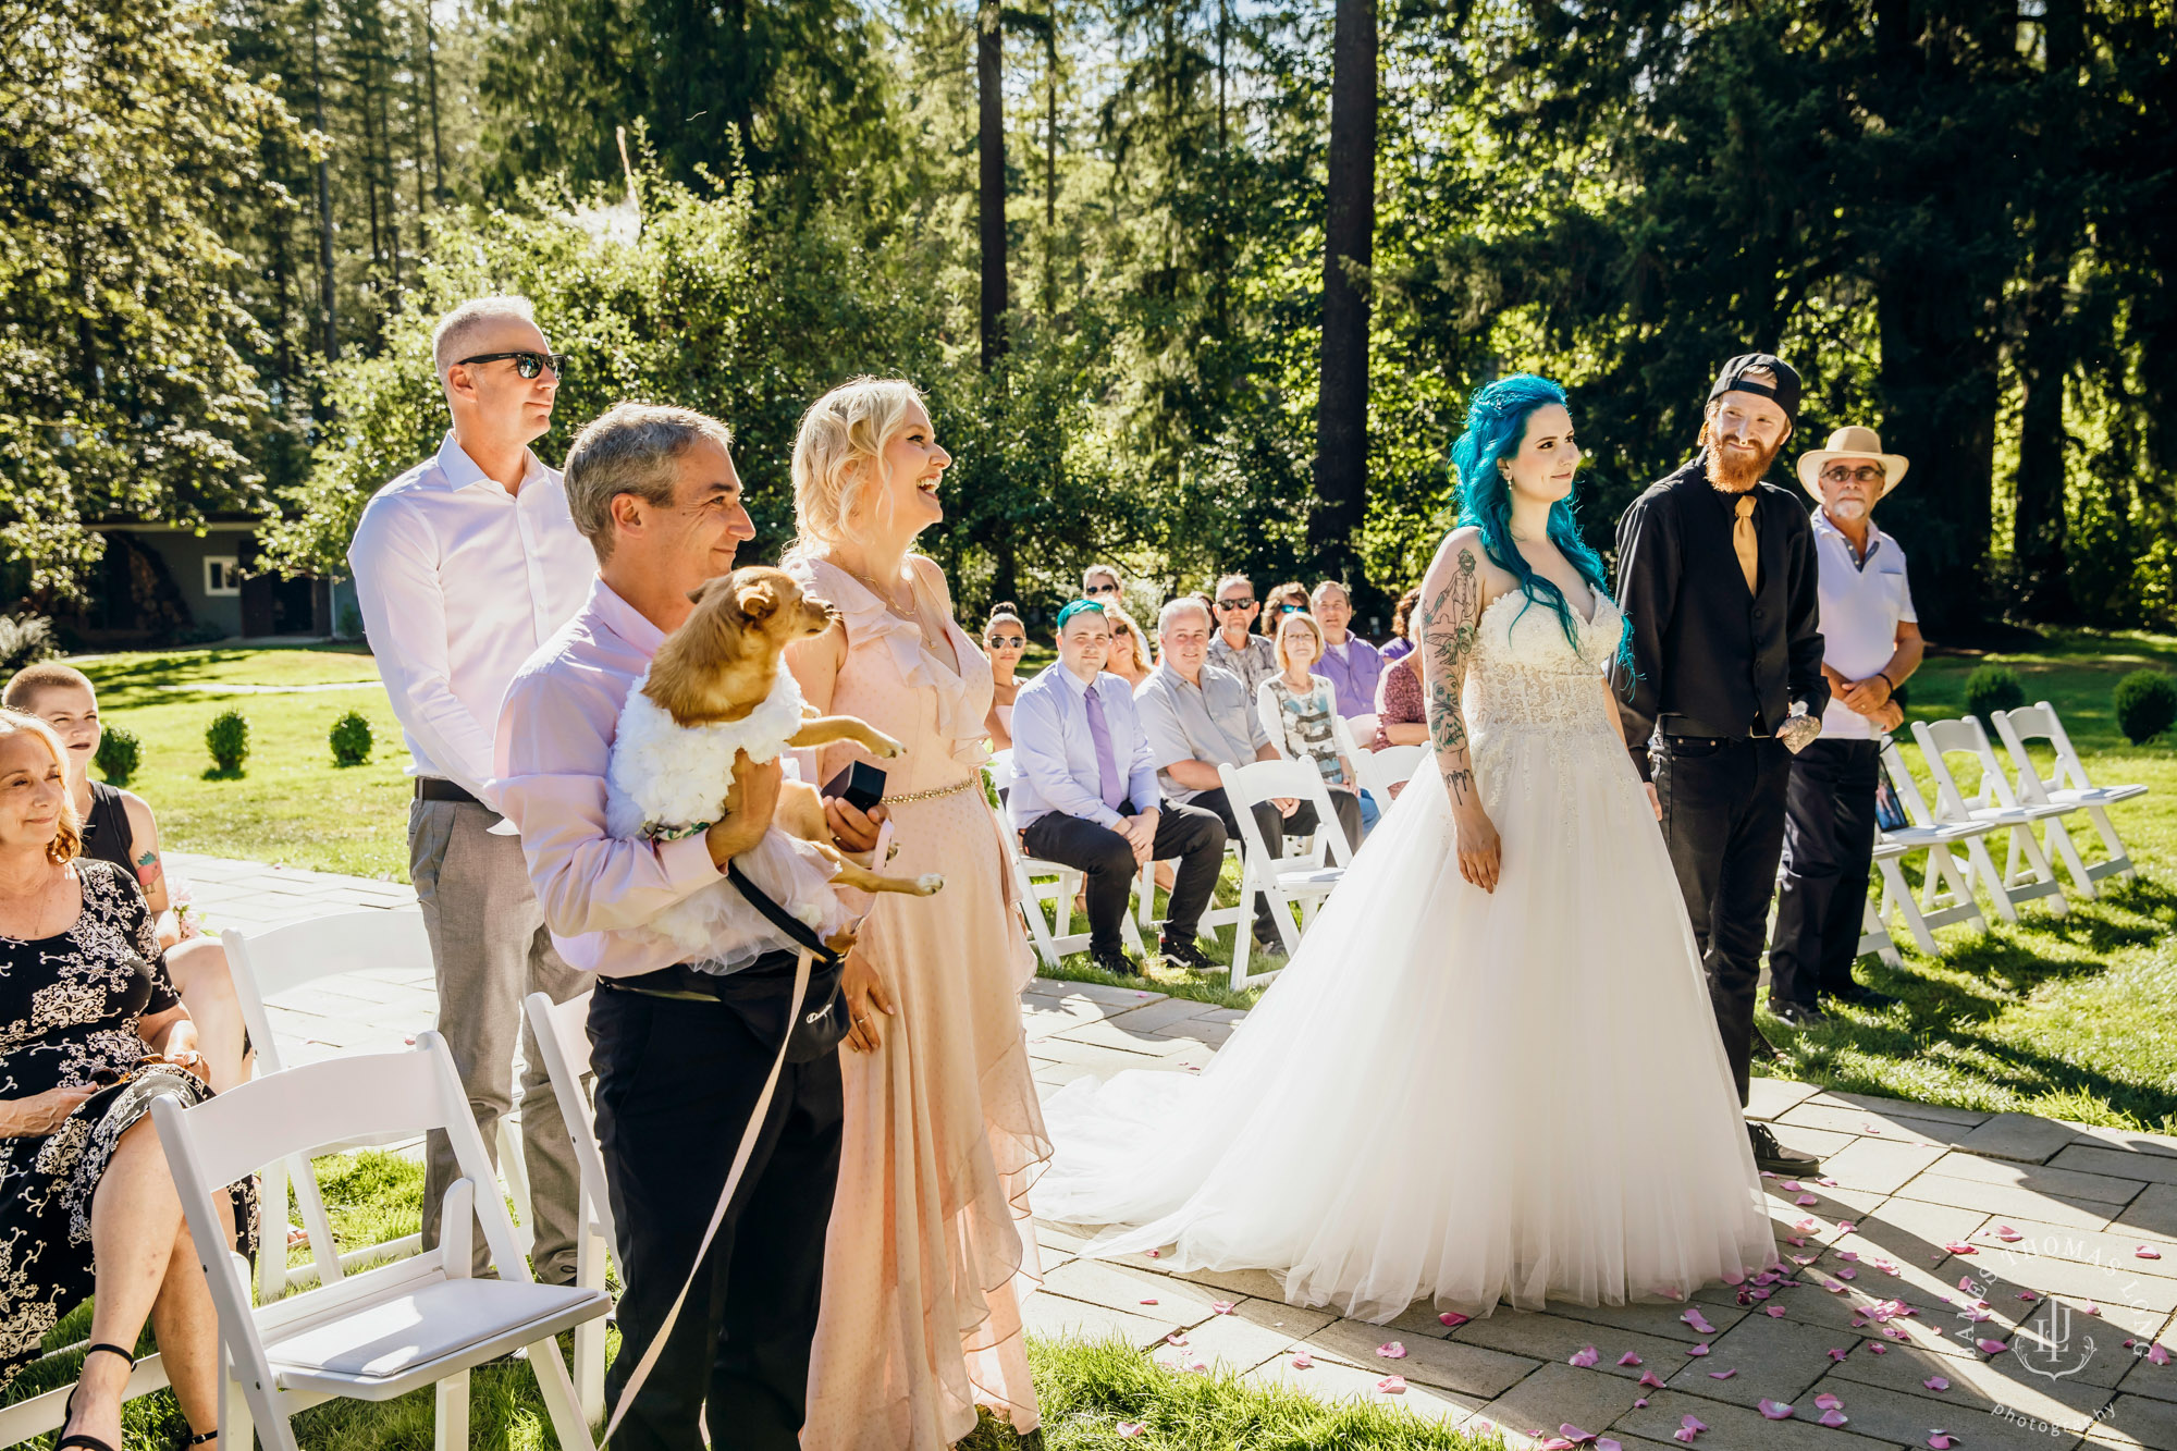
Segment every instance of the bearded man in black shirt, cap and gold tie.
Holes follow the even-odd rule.
[[[1618,521],[1631,669],[1613,664],[1633,765],[1670,845],[1709,976],[1715,1031],[1746,1102],[1761,939],[1783,854],[1792,752],[1818,736],[1829,682],[1807,512],[1761,477],[1798,418],[1798,373],[1770,353],[1724,364],[1700,453]],[[1820,1161],[1748,1124],[1755,1161]]]

